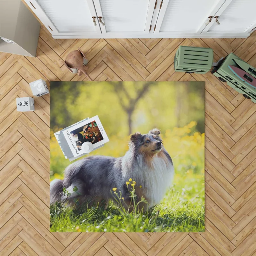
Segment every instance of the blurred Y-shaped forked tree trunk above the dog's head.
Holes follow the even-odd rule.
[[[144,94],[148,91],[149,85],[152,84],[152,82],[145,82],[143,84],[142,88],[138,89],[136,91],[135,98],[132,98],[130,94],[127,92],[126,88],[124,87],[123,82],[118,82],[114,84],[114,89],[116,92],[116,95],[119,99],[119,103],[124,109],[124,111],[127,113],[127,121],[128,121],[128,135],[132,133],[132,114],[135,110],[135,107],[138,103],[138,101],[144,96]],[[124,103],[124,99],[128,100],[128,103]]]

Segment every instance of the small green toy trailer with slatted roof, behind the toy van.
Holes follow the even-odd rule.
[[[180,46],[174,57],[174,69],[179,72],[205,74],[212,68],[212,48]]]

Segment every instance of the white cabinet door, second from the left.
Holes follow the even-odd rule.
[[[141,35],[149,32],[156,0],[93,0],[102,34]]]

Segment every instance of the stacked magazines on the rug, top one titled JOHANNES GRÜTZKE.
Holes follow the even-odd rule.
[[[82,148],[84,142],[91,142],[93,150],[95,150],[109,141],[98,116],[86,118],[54,133],[54,135],[65,158],[70,161],[86,154]]]

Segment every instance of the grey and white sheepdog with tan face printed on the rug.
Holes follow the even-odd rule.
[[[70,164],[63,180],[50,184],[50,203],[71,202],[77,197],[82,201],[113,199],[112,188],[121,191],[124,203],[130,204],[131,197],[126,182],[136,181],[137,201],[143,196],[150,208],[163,198],[172,183],[174,174],[171,156],[164,148],[160,131],[153,129],[147,134],[136,132],[131,135],[129,150],[122,157],[88,156]],[[73,188],[77,188],[76,193]],[[69,196],[63,194],[66,188]],[[79,194],[79,196],[78,196]]]

